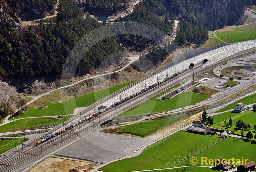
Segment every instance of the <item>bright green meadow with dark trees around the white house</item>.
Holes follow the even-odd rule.
[[[230,116],[232,119],[232,126],[231,127],[227,127],[227,126],[222,127],[222,125],[224,125],[224,121],[226,120],[226,122],[228,122]],[[251,125],[250,131],[254,135],[253,126],[256,125],[256,112],[251,111],[251,110],[248,110],[243,113],[224,112],[224,113],[215,115],[213,125],[211,125],[211,127],[222,129],[222,130],[233,130],[234,133],[241,134],[240,130],[235,130],[236,129],[236,127],[235,127],[236,121],[238,121],[239,119],[241,119],[244,123],[248,123],[249,125]],[[247,134],[247,132],[248,131],[243,131],[243,135],[245,136]]]

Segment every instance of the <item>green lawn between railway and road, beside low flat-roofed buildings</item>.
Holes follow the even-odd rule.
[[[197,104],[205,99],[208,99],[209,97],[210,96],[204,94],[182,92],[172,99],[160,100],[152,98],[120,114],[119,117],[173,110]]]

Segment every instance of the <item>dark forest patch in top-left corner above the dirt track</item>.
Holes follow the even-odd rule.
[[[1,0],[0,5],[14,19],[22,21],[36,20],[54,13],[57,0]]]

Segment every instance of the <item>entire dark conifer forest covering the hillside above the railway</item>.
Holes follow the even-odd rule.
[[[123,9],[128,0],[88,0],[92,13],[115,13]],[[0,1],[6,13],[14,19],[37,19],[46,12],[51,12],[57,0],[10,0]],[[77,0],[60,0],[58,16],[48,21],[40,21],[33,26],[16,26],[12,21],[0,24],[0,78],[34,78],[60,77],[64,63],[77,41],[106,23],[99,23],[76,6]],[[180,20],[176,42],[180,46],[199,47],[208,38],[208,29],[235,24],[243,15],[247,6],[254,0],[144,0],[136,5],[133,12],[120,21],[133,21],[133,27],[138,28],[134,34],[110,36],[96,43],[87,51],[80,61],[76,75],[87,74],[102,66],[117,64],[121,61],[122,51],[126,48],[141,51],[160,41],[163,33],[172,34],[173,20]],[[104,11],[105,10],[105,11]],[[145,23],[160,31],[157,34],[147,34]],[[122,30],[123,28],[116,28]],[[155,44],[154,44],[155,45]],[[152,47],[146,55],[153,65],[162,62],[176,45],[167,47]],[[165,50],[168,50],[165,51]],[[109,56],[119,52],[116,56]],[[120,54],[121,53],[121,54]],[[106,60],[106,57],[108,59]],[[141,63],[148,64],[141,59]]]

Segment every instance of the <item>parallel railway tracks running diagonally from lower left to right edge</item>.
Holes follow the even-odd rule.
[[[248,52],[248,53],[245,53],[243,54],[243,56],[246,56],[246,55],[249,55],[253,52]],[[232,60],[234,59],[237,59],[237,58],[240,58],[241,56],[240,55],[237,55],[237,56],[234,56],[232,58]],[[218,65],[221,65],[221,64],[224,64],[227,60],[223,59],[221,61],[218,62]],[[206,66],[206,68],[200,68],[200,66],[195,66],[195,75],[198,75],[200,73],[204,73],[205,71],[208,71],[210,69],[212,69],[215,65],[217,65],[216,63],[215,64],[212,64],[212,65],[209,65],[208,67]],[[197,70],[197,71],[196,71]],[[183,71],[181,73],[183,73],[183,76],[187,74],[186,77],[184,77],[183,79],[186,80],[186,79],[189,79],[192,74],[189,74],[191,72],[191,69],[187,69],[186,71]],[[191,72],[192,73],[192,72]],[[189,75],[188,75],[189,74]],[[148,76],[148,77],[145,77],[143,79],[141,79],[140,81],[138,82],[142,82],[144,81],[145,79],[151,77],[152,75]],[[162,91],[170,88],[170,82],[172,82],[172,85],[176,85],[177,83],[180,83],[182,80],[182,76],[177,76],[177,80],[176,80],[176,77],[175,78],[172,78],[166,82],[163,82],[157,86],[154,87],[154,90],[151,89],[151,90],[148,90],[146,91],[145,93],[143,93],[143,95],[147,95],[147,94],[150,94],[149,96],[147,96],[147,99],[150,99],[152,97],[155,96],[155,94],[157,93],[153,93],[153,91],[155,91],[156,89],[161,89]],[[175,82],[173,82],[175,81]],[[88,113],[89,111],[93,110],[94,107],[100,105],[102,102],[106,102],[108,99],[111,99],[112,97],[114,97],[115,95],[121,93],[124,89],[127,89],[129,87],[132,87],[134,85],[136,85],[137,82],[133,83],[133,84],[130,84],[129,86],[123,88],[123,89],[120,89],[118,90],[116,93],[114,94],[111,94],[105,98],[103,98],[102,100],[96,102],[95,104],[93,104],[91,107],[87,108],[86,110],[83,110],[81,111],[81,114],[84,115],[86,113]],[[161,88],[162,87],[162,88]],[[47,153],[50,153],[51,150],[53,150],[54,148],[58,147],[59,145],[61,145],[61,143],[66,143],[72,139],[74,139],[75,137],[77,137],[79,134],[81,133],[84,133],[92,128],[94,128],[95,126],[99,125],[100,123],[103,123],[109,119],[111,119],[112,117],[116,116],[116,115],[119,115],[121,114],[122,112],[124,112],[125,110],[128,110],[131,107],[131,105],[129,105],[129,102],[130,101],[134,101],[133,105],[136,106],[144,101],[146,101],[146,99],[142,99],[142,100],[137,100],[138,98],[140,98],[142,96],[142,94],[140,96],[136,96],[136,97],[133,97],[132,99],[130,99],[129,101],[127,100],[126,102],[124,102],[123,104],[120,104],[118,106],[116,106],[116,108],[111,108],[110,110],[107,110],[105,111],[104,113],[98,115],[97,117],[93,117],[90,121],[85,121],[81,124],[81,129],[80,128],[77,128],[77,129],[74,129],[72,132],[69,132],[69,130],[67,132],[64,132],[62,133],[60,136],[62,137],[62,139],[57,139],[56,141],[54,142],[51,142],[52,144],[49,144],[50,143],[50,140],[47,141],[47,142],[43,142],[42,144],[40,144],[39,146],[42,147],[42,151],[44,152],[43,154],[47,154]],[[137,101],[136,101],[137,100]],[[128,104],[128,105],[127,105]],[[118,108],[120,107],[123,107],[125,106],[124,108],[122,108],[122,110],[118,110]],[[113,111],[116,111],[116,113],[113,113]],[[70,118],[70,120],[66,121],[64,124],[68,124],[70,123],[70,121],[74,121],[74,120],[77,120],[80,118],[80,113],[76,114],[74,117]],[[109,114],[109,115],[108,115]],[[88,114],[87,114],[88,115]],[[103,117],[103,119],[102,119]],[[97,121],[98,119],[102,119],[100,121]],[[56,127],[54,127],[53,129],[51,129],[50,131],[48,131],[49,133],[53,133],[53,132],[56,132],[57,130],[63,128],[63,125],[58,125]],[[35,140],[32,140],[31,142],[29,142],[30,145],[35,145],[36,144],[36,141],[38,141],[38,139],[35,139]],[[25,149],[25,150],[24,150]],[[9,155],[9,156],[12,156],[13,153],[15,154],[15,164],[13,165],[13,159],[8,159],[8,158],[1,158],[0,159],[0,171],[9,171],[9,170],[13,170],[15,169],[17,166],[20,166],[24,163],[26,163],[27,161],[35,158],[35,157],[38,157],[39,155],[41,155],[41,148],[37,148],[37,147],[31,147],[31,146],[26,146],[23,148],[23,150],[21,151],[21,148],[20,148],[20,145],[19,145],[19,148],[17,148],[16,150],[14,151],[9,151],[7,152],[5,155]],[[26,160],[25,160],[26,159]]]

